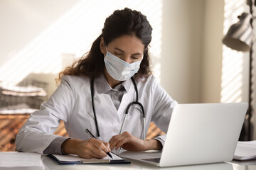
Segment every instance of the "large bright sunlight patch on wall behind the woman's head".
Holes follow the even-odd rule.
[[[63,54],[81,57],[100,35],[105,18],[114,10],[124,7],[141,11],[153,27],[150,54],[155,58],[154,73],[160,81],[161,65],[157,60],[161,56],[162,1],[148,0],[79,1],[58,21],[2,64],[0,80],[18,82],[31,73],[57,74],[62,69]]]

